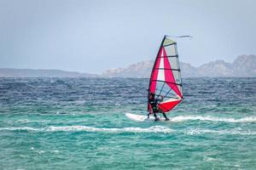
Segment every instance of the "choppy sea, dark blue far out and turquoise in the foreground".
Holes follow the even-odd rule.
[[[0,78],[0,169],[256,169],[256,78],[183,78],[171,122],[148,79]]]

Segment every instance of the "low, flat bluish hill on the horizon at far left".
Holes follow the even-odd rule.
[[[97,77],[76,71],[0,68],[0,77]]]

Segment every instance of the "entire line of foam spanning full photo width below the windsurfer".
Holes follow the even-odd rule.
[[[164,126],[152,127],[88,127],[88,126],[50,126],[44,128],[34,127],[2,127],[0,131],[38,131],[38,132],[99,132],[99,133],[184,133],[187,135],[200,135],[204,133],[216,133],[220,135],[235,134],[235,135],[256,135],[255,131],[241,129],[241,127],[212,130],[207,128],[187,128],[181,130],[173,130]]]

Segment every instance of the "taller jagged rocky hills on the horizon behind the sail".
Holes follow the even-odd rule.
[[[126,68],[109,69],[103,77],[149,77],[153,60],[142,61]],[[180,62],[183,77],[256,77],[256,55],[239,55],[232,63],[216,60],[199,67]]]

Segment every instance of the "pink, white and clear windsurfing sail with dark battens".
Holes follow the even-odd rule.
[[[182,99],[182,81],[177,55],[177,42],[164,37],[154,61],[148,86],[149,94],[159,99],[162,112],[171,111]],[[148,103],[148,110],[150,110]]]

